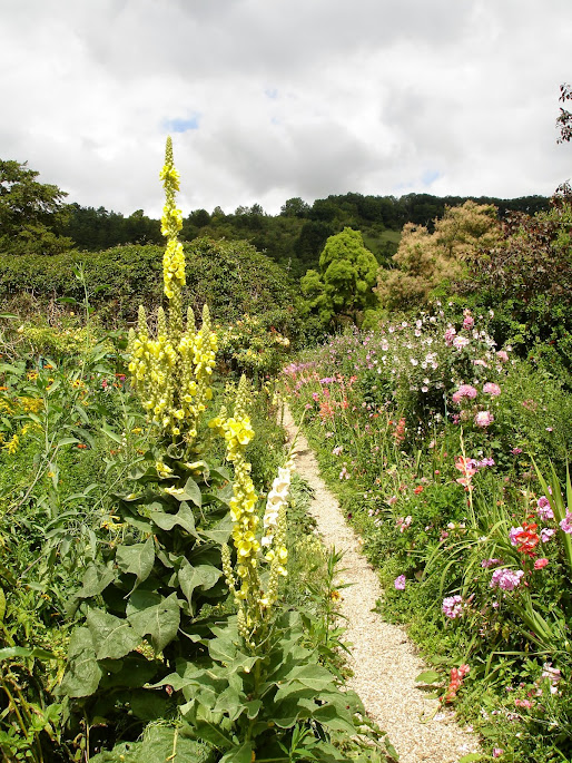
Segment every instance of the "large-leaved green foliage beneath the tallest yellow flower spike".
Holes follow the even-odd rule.
[[[72,635],[59,691],[109,730],[125,726],[127,708],[139,730],[174,712],[177,695],[169,701],[149,684],[200,653],[201,609],[226,597],[219,544],[229,534],[228,475],[180,458],[175,447],[149,453],[130,473],[115,496],[121,542],[87,566],[75,596],[85,625]]]

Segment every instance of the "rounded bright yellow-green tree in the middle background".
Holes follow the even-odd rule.
[[[324,323],[343,317],[357,323],[363,311],[377,302],[373,293],[376,274],[377,261],[362,234],[346,227],[329,236],[319,255],[319,273],[308,271],[300,285],[310,310]]]

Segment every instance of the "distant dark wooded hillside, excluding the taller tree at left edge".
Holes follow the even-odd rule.
[[[220,207],[213,213],[194,209],[183,221],[181,237],[187,242],[205,237],[246,239],[298,280],[308,268],[317,268],[327,237],[344,227],[362,231],[365,245],[384,264],[395,253],[405,223],[425,225],[431,231],[432,221],[443,216],[446,206],[458,206],[465,200],[466,197],[440,198],[430,194],[395,198],[348,193],[316,199],[312,205],[299,197],[289,198],[274,216],[265,213],[259,204],[239,206],[230,214]],[[541,196],[509,200],[482,197],[476,203],[494,204],[502,216],[507,209],[533,213],[548,208],[548,199]],[[70,204],[66,214],[68,222],[58,231],[70,236],[80,250],[96,252],[160,242],[159,221],[148,218],[140,209],[127,217],[103,207],[93,209]]]

